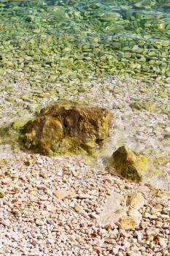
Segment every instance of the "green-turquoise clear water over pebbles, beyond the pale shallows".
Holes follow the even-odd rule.
[[[170,77],[169,0],[0,2],[0,74]],[[47,75],[46,75],[47,77]]]

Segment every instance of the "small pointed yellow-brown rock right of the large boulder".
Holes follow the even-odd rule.
[[[149,159],[131,151],[127,146],[121,146],[112,154],[111,165],[115,171],[132,181],[141,181],[147,171]]]

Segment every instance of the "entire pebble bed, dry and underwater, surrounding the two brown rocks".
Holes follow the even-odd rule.
[[[169,1],[0,9],[0,255],[169,256]],[[95,154],[35,154],[4,134],[63,99],[112,113]],[[142,181],[109,166],[124,145],[150,159]]]

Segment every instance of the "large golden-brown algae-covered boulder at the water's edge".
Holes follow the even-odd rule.
[[[105,108],[61,102],[44,108],[24,127],[26,148],[47,155],[92,153],[104,143],[111,113]]]

